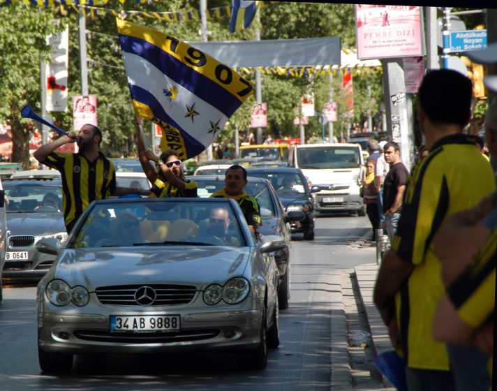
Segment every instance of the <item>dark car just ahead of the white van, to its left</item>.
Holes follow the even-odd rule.
[[[304,239],[314,239],[314,202],[313,193],[320,191],[318,186],[311,187],[300,168],[248,168],[249,177],[268,179],[278,194],[285,212],[299,210],[304,212],[304,221],[292,221],[291,233],[304,233]],[[293,179],[290,186],[285,186]]]

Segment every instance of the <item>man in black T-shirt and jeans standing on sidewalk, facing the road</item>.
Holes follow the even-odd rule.
[[[390,170],[383,182],[384,228],[387,229],[388,239],[392,243],[402,212],[402,198],[409,172],[401,161],[399,144],[394,141],[387,142],[384,151],[385,161],[390,164]]]

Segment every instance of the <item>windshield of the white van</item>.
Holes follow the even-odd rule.
[[[357,147],[316,147],[297,149],[300,168],[358,168],[361,156]]]

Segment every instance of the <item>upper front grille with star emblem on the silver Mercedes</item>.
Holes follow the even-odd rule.
[[[140,304],[135,300],[135,293],[142,288],[149,288],[147,295],[151,302]],[[102,304],[123,306],[163,306],[188,304],[193,300],[197,289],[187,285],[125,285],[96,288],[96,295]]]

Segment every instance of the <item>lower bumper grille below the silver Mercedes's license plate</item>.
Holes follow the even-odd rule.
[[[74,336],[84,341],[120,344],[174,344],[186,341],[202,341],[217,337],[219,330],[192,330],[175,333],[112,334],[110,332],[78,330]]]

